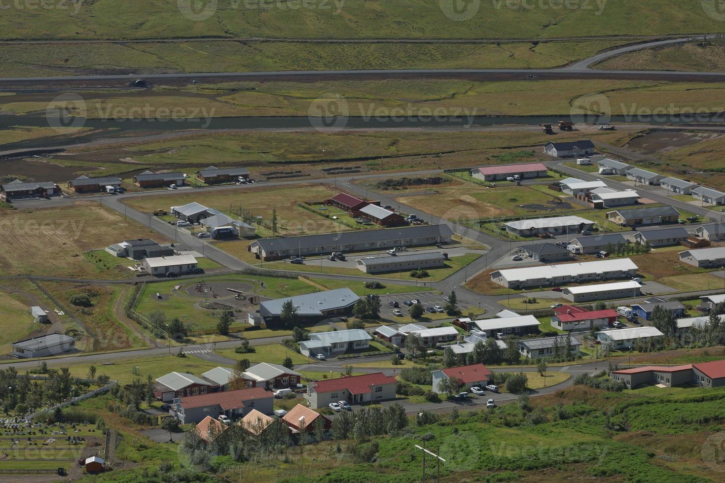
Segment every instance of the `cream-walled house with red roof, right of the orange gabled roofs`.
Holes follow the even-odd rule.
[[[310,408],[326,408],[339,400],[346,400],[350,404],[377,402],[394,399],[396,384],[397,379],[382,372],[339,377],[310,382],[305,399]]]

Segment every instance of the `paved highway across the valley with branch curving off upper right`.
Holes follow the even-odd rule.
[[[288,71],[269,71],[269,72],[176,72],[172,74],[128,74],[128,75],[71,75],[71,76],[51,76],[51,77],[4,77],[0,78],[0,83],[21,83],[21,82],[49,82],[57,86],[58,83],[68,81],[101,81],[101,80],[123,80],[130,81],[136,78],[145,80],[164,80],[164,79],[210,79],[210,78],[236,78],[251,79],[263,78],[271,79],[277,77],[295,78],[295,77],[319,77],[329,79],[331,77],[360,77],[360,76],[377,76],[377,77],[453,77],[453,76],[480,76],[480,75],[523,75],[529,77],[537,77],[540,75],[571,77],[571,75],[581,75],[589,77],[617,77],[617,78],[662,78],[662,79],[678,79],[678,78],[701,78],[717,80],[725,78],[723,72],[672,72],[672,71],[643,71],[643,70],[590,70],[589,65],[594,62],[601,62],[611,56],[624,54],[627,52],[648,49],[669,45],[680,42],[687,42],[696,39],[707,38],[707,35],[698,35],[697,37],[671,38],[665,41],[653,41],[645,43],[637,43],[634,45],[605,51],[580,62],[556,69],[361,69],[361,70],[288,70]]]

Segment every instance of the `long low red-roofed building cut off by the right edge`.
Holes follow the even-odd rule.
[[[613,371],[612,379],[624,382],[629,389],[639,385],[725,386],[725,361],[711,361],[682,366],[644,366]]]

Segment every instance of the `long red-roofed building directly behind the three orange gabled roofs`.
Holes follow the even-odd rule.
[[[169,413],[181,424],[196,423],[206,416],[217,419],[225,414],[231,419],[242,417],[256,409],[263,414],[273,413],[274,394],[264,387],[250,387],[235,391],[211,392],[199,396],[176,398]]]

